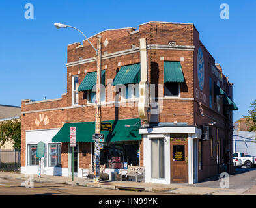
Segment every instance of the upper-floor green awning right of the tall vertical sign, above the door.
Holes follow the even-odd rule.
[[[184,75],[179,61],[164,61],[164,83],[167,82],[184,82]]]

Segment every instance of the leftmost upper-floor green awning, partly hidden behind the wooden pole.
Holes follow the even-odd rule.
[[[97,82],[97,72],[89,72],[78,87],[78,91],[92,90]],[[105,70],[102,70],[101,82],[105,86]]]

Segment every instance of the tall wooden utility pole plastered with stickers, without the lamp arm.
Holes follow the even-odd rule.
[[[100,102],[100,84],[101,84],[101,68],[102,68],[102,37],[97,36],[97,81],[96,81],[96,112],[95,112],[95,134],[100,134],[100,123],[101,123],[101,102]],[[99,142],[94,141],[94,183],[99,183],[100,175],[100,149]]]

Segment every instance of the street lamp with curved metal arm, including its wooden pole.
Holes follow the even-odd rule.
[[[64,25],[62,23],[54,23],[54,25],[55,25],[55,27],[57,27],[57,29],[71,27],[71,28],[79,31],[81,34],[83,34],[82,31],[80,31],[76,27],[72,27],[70,25]],[[87,38],[87,36],[85,36],[85,34],[83,34],[83,36],[85,37],[85,40],[87,40],[89,42],[89,44],[91,44],[91,42]],[[93,47],[94,51],[96,51],[96,56],[97,56],[95,134],[100,134],[100,123],[101,123],[100,83],[101,83],[101,68],[102,68],[102,46],[101,46],[102,37],[97,36],[97,38],[98,38],[97,49],[95,49],[95,47],[92,44],[91,44],[91,46]],[[73,148],[73,151],[74,151],[74,148]],[[94,183],[99,183],[98,174],[100,172],[99,171],[100,155],[98,155],[98,165],[96,165],[96,153],[100,154],[99,149],[96,145],[96,141],[95,141],[95,143],[94,143]]]

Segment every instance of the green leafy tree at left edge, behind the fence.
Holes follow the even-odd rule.
[[[7,120],[0,123],[0,148],[8,141],[14,144],[15,149],[21,148],[20,119]]]

